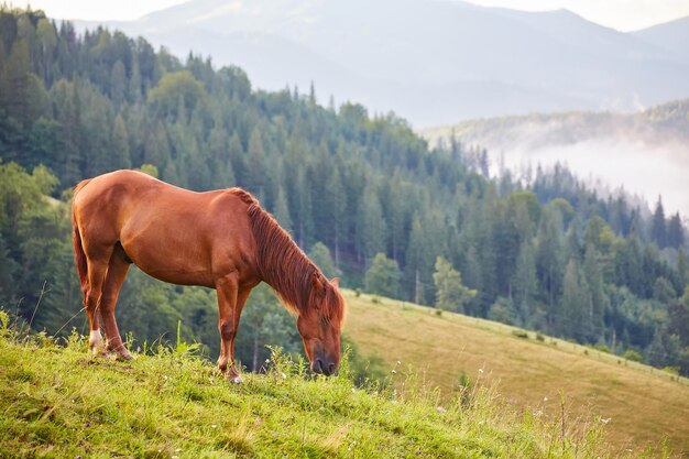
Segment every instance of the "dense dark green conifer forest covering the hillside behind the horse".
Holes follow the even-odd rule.
[[[2,7],[0,159],[0,306],[50,335],[87,329],[72,187],[131,167],[196,190],[249,189],[347,287],[689,374],[686,229],[661,199],[648,211],[603,198],[564,166],[490,178],[485,151],[430,147],[394,113],[324,103],[313,87],[255,90],[210,57]],[[215,293],[136,271],[118,307],[134,348],[181,324],[217,356]],[[275,302],[259,288],[245,309],[237,346],[249,368],[264,342],[300,347]]]

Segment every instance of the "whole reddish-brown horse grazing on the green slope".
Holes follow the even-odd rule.
[[[344,300],[289,234],[239,188],[195,193],[134,171],[116,171],[79,183],[72,205],[74,250],[89,319],[89,347],[131,359],[118,330],[114,306],[130,264],[149,275],[218,292],[221,337],[218,368],[232,381],[234,336],[249,293],[261,281],[297,316],[297,329],[316,373],[340,362]],[[228,368],[229,365],[229,368]]]

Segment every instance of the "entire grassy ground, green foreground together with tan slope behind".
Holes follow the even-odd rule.
[[[689,384],[512,327],[346,292],[346,332],[385,360],[358,387],[274,352],[231,384],[182,342],[131,362],[0,317],[2,458],[655,458],[689,451]],[[0,312],[0,315],[3,313]],[[522,335],[522,334],[518,334]],[[665,444],[664,444],[664,440]]]

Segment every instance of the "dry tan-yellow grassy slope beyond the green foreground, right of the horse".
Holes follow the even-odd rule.
[[[467,316],[367,295],[347,296],[346,330],[392,367],[412,367],[451,396],[462,374],[496,384],[516,407],[561,413],[570,423],[600,416],[612,449],[639,453],[664,438],[689,455],[689,381],[559,339]]]

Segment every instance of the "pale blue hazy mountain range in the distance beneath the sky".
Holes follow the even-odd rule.
[[[565,10],[451,0],[284,0],[280,8],[270,0],[192,0],[107,25],[181,56],[193,50],[217,65],[239,65],[261,88],[306,91],[314,81],[322,101],[332,95],[394,110],[417,127],[534,111],[636,110],[689,96],[689,57],[659,39]]]

